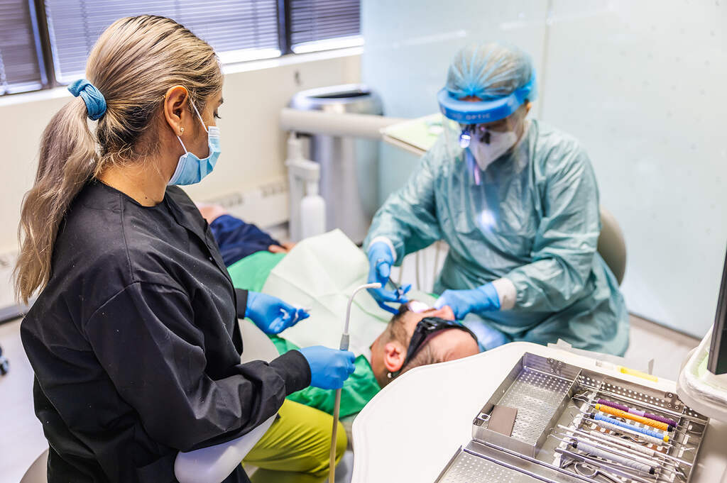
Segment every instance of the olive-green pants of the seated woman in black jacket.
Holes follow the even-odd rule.
[[[287,399],[278,415],[243,460],[244,466],[258,468],[250,476],[252,482],[323,482],[329,473],[332,416]],[[336,463],[345,450],[346,433],[338,423]]]

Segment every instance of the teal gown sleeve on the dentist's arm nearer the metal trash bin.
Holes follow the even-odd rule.
[[[436,145],[427,151],[406,184],[379,208],[364,247],[368,248],[375,238],[387,238],[396,252],[395,260],[401,262],[407,253],[426,248],[441,238],[436,216],[433,166],[438,151]]]

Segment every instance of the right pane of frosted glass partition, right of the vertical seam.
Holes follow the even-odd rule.
[[[727,242],[726,28],[719,1],[555,0],[550,15],[542,116],[593,159],[630,311],[694,336]]]

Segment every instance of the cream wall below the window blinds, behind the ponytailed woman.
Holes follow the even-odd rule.
[[[284,133],[278,113],[295,92],[360,79],[358,49],[248,62],[225,68],[217,123],[222,156],[214,172],[187,191],[195,199],[217,198],[281,179],[285,174]],[[17,248],[23,194],[32,186],[41,132],[70,100],[65,89],[0,98],[0,252]]]

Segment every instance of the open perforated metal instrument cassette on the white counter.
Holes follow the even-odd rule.
[[[577,399],[573,399],[575,394]],[[473,421],[473,440],[457,450],[436,481],[608,482],[603,476],[587,477],[561,468],[563,457],[556,449],[565,449],[566,443],[549,438],[558,425],[569,429],[595,429],[584,421],[580,410],[590,407],[582,399],[594,403],[599,398],[678,421],[678,431],[672,435],[670,445],[648,445],[648,448],[686,462],[682,466],[683,479],[665,474],[660,468],[660,474],[655,475],[659,482],[690,482],[691,468],[698,458],[709,422],[707,418],[686,407],[676,394],[529,353],[521,357],[482,407]],[[518,409],[509,437],[487,427],[495,405]],[[629,423],[643,426],[633,421]],[[639,480],[622,477],[618,481]]]

